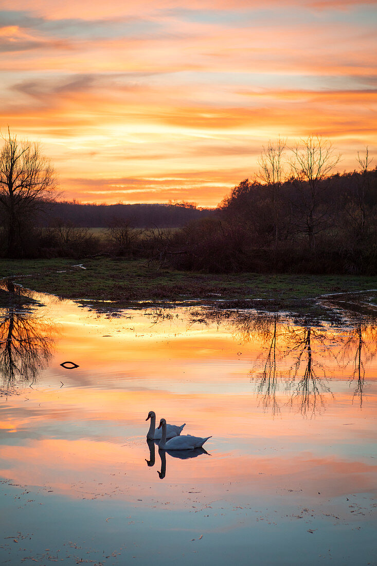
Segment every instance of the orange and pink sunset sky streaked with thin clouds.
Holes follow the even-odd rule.
[[[376,4],[0,0],[1,131],[82,202],[214,207],[279,135],[354,170],[377,149]]]

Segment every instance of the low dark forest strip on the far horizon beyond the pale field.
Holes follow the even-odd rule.
[[[177,204],[80,204],[53,202],[39,216],[42,226],[56,221],[79,228],[108,228],[114,218],[131,222],[135,228],[179,228],[191,220],[213,213],[212,209],[196,208],[191,203]]]

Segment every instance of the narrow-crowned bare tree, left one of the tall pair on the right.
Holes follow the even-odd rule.
[[[282,183],[286,179],[285,165],[283,156],[286,146],[286,139],[282,140],[279,136],[275,143],[268,141],[267,148],[262,149],[262,153],[258,159],[259,174],[258,178],[268,188],[271,197],[273,223],[274,223],[274,240],[275,250],[279,238],[279,192]]]

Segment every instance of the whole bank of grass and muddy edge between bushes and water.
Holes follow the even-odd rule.
[[[0,306],[31,304],[35,291],[98,312],[198,305],[285,312],[301,320],[336,320],[342,312],[375,318],[377,313],[377,277],[177,272],[109,259],[1,260],[0,277]]]

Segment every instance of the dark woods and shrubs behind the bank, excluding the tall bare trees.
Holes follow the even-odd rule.
[[[314,187],[244,179],[214,210],[55,202],[39,217],[33,225],[24,219],[19,246],[3,256],[145,258],[212,273],[377,273],[377,168],[329,175]]]

